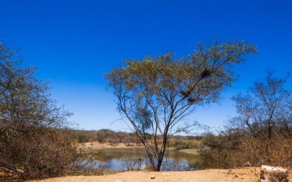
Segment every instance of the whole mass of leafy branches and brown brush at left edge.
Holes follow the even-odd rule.
[[[19,50],[0,42],[0,181],[37,179],[81,170],[72,115],[50,98]]]

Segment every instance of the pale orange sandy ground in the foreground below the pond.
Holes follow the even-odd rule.
[[[210,169],[180,172],[122,172],[106,176],[68,176],[29,182],[258,182],[260,168]],[[155,179],[151,179],[154,176]],[[292,180],[292,179],[291,179]]]

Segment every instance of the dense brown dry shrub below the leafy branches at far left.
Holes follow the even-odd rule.
[[[0,146],[0,172],[23,180],[68,174],[77,157],[69,137],[51,128],[1,135]]]

